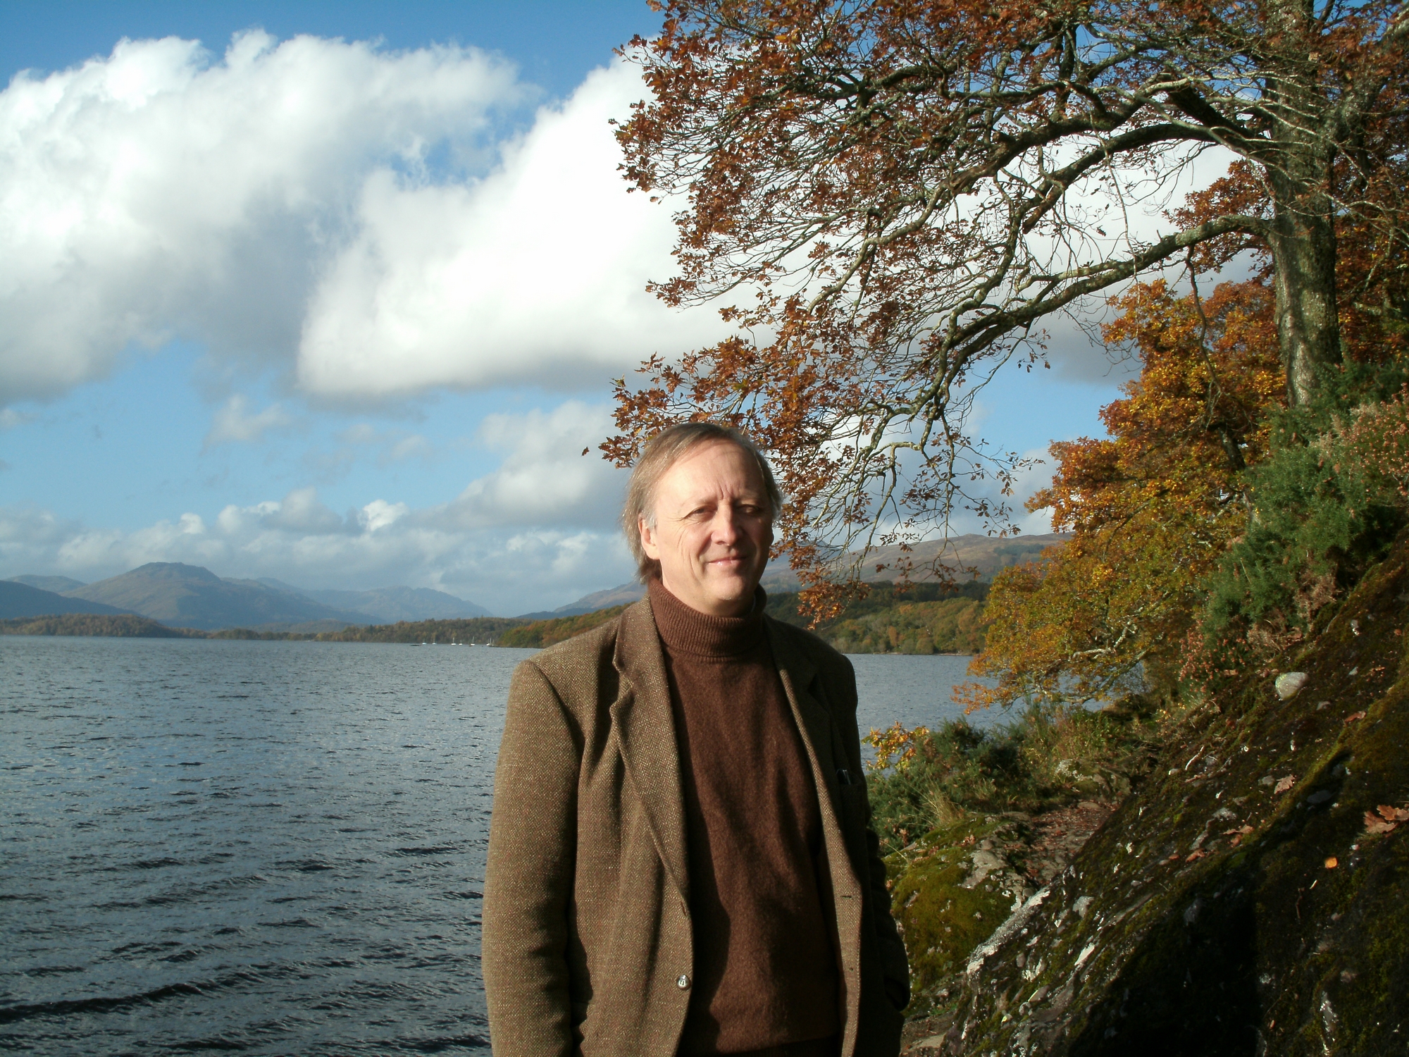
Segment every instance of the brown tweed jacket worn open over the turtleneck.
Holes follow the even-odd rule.
[[[843,1057],[893,1057],[905,947],[851,664],[765,619],[819,792]],[[650,600],[519,665],[495,775],[483,974],[495,1054],[672,1057],[693,984],[679,761]]]

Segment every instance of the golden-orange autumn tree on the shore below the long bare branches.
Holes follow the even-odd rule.
[[[1205,582],[1247,527],[1243,471],[1265,457],[1284,396],[1268,285],[1203,302],[1157,280],[1117,304],[1105,337],[1134,345],[1143,369],[1102,409],[1109,438],[1053,444],[1053,483],[1029,507],[1072,538],[995,578],[969,669],[996,682],[964,688],[972,707],[1102,699],[1137,672],[1168,689]]]

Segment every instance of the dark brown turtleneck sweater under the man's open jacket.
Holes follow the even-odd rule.
[[[764,592],[744,617],[690,609],[658,579],[650,593],[679,743],[695,936],[679,1053],[824,1057],[840,1026],[826,848]]]

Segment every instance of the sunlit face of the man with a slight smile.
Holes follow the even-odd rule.
[[[754,458],[728,441],[700,444],[655,486],[655,527],[641,545],[675,598],[710,616],[740,616],[774,541],[768,492]]]

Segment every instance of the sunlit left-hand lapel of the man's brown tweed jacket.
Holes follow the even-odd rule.
[[[616,655],[621,689],[612,705],[612,726],[626,772],[641,799],[657,853],[683,899],[689,899],[685,861],[685,802],[671,715],[671,685],[655,631],[650,599],[621,614]]]

